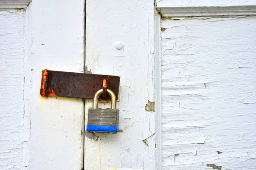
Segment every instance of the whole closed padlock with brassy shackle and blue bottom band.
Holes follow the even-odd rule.
[[[93,108],[88,111],[87,131],[90,132],[118,132],[119,110],[116,109],[116,95],[110,89],[107,93],[111,96],[111,109],[98,109],[98,98],[103,89],[97,91],[93,98]]]

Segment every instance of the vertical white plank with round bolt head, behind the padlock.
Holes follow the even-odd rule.
[[[155,170],[155,113],[145,111],[148,101],[154,102],[154,2],[87,0],[86,14],[88,70],[120,76],[120,132],[85,137],[84,169]],[[85,106],[87,113],[92,102]]]

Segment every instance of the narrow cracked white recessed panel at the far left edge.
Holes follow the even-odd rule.
[[[23,10],[0,10],[0,169],[22,169]]]

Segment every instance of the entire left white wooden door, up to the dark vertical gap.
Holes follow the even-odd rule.
[[[0,2],[0,169],[80,170],[83,101],[39,93],[45,68],[84,72],[84,0],[29,2]]]

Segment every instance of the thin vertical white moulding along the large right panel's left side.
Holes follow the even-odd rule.
[[[155,10],[154,16],[154,77],[155,77],[155,128],[156,128],[156,170],[162,169],[162,95],[161,95],[161,16]]]

